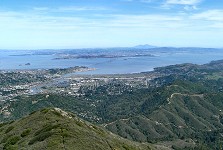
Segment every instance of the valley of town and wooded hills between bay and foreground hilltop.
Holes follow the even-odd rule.
[[[3,91],[0,119],[15,120],[57,107],[131,141],[174,149],[218,149],[223,133],[222,66],[223,61],[212,61],[118,75],[51,70],[48,78],[29,78],[27,83],[38,84],[26,92]],[[4,79],[2,89],[21,86],[15,74],[17,82]],[[38,92],[31,91],[34,87]]]

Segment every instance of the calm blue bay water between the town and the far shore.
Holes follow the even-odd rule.
[[[155,67],[196,63],[204,64],[223,59],[223,50],[156,52],[155,57],[122,57],[93,59],[57,59],[55,55],[31,55],[29,51],[0,51],[0,70],[49,69],[87,66],[95,71],[82,74],[116,74],[151,71]],[[30,54],[30,55],[29,55]],[[30,65],[25,65],[30,63]]]

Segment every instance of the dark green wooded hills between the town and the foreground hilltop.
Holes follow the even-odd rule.
[[[17,119],[40,108],[59,107],[133,141],[158,143],[173,149],[221,149],[222,69],[223,61],[156,68],[152,73],[158,77],[149,82],[148,88],[128,89],[114,95],[109,94],[108,89],[119,89],[120,84],[85,90],[81,96],[18,96],[17,101],[9,105],[10,117],[1,116],[1,119]],[[13,130],[13,126],[8,125],[2,132]],[[32,133],[29,130],[20,134],[26,138]],[[43,135],[36,134],[28,144],[52,137],[51,132],[41,132]],[[18,137],[12,139],[9,143],[19,140]]]

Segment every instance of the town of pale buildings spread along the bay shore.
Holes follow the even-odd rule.
[[[152,72],[113,75],[78,74],[91,70],[94,68],[0,71],[0,115],[6,118],[10,116],[8,109],[10,102],[18,101],[19,96],[59,94],[79,97],[92,94],[98,88],[105,89],[106,95],[121,95],[125,91],[148,88],[151,86],[150,81],[157,77],[157,74]],[[84,117],[85,114],[82,115]]]

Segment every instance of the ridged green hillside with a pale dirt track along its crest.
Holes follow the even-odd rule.
[[[173,82],[163,88],[166,94],[159,93],[166,98],[157,109],[151,112],[144,106],[139,115],[119,119],[106,127],[134,141],[193,139],[196,145],[219,148],[223,140],[223,93],[213,89],[217,87],[216,82],[210,86],[206,82]],[[218,80],[218,84],[222,81]]]

